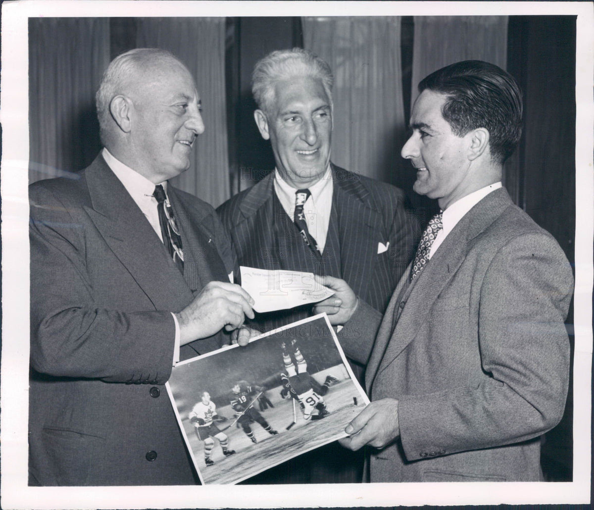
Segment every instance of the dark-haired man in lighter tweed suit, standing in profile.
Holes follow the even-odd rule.
[[[481,61],[435,71],[419,92],[402,156],[415,191],[443,214],[383,319],[346,282],[320,278],[336,295],[316,310],[360,332],[339,337],[367,363],[372,399],[342,444],[374,447],[371,481],[542,480],[540,436],[567,396],[573,275],[554,238],[501,187],[522,96]]]

